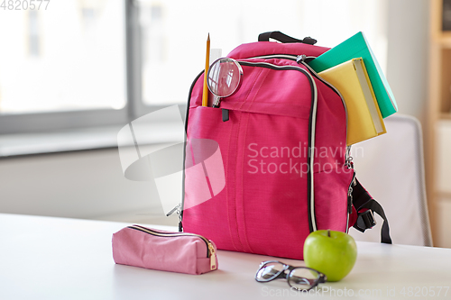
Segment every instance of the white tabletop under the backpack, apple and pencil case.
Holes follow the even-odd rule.
[[[283,280],[255,282],[260,262],[270,259],[259,255],[219,250],[219,269],[200,276],[115,265],[111,235],[126,225],[0,214],[0,299],[306,297],[290,291]],[[352,272],[340,282],[320,285],[312,297],[423,299],[423,293],[431,299],[451,298],[450,249],[372,242],[357,246]]]

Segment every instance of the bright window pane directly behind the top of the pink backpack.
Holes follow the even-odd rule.
[[[258,3],[258,5],[256,5]],[[372,42],[382,66],[386,57],[385,1],[360,0],[141,0],[144,105],[185,103],[192,80],[205,66],[207,33],[211,48],[226,56],[237,45],[278,30],[311,36],[333,47],[359,31]],[[320,14],[319,14],[320,12]]]

